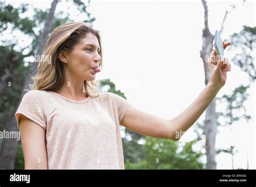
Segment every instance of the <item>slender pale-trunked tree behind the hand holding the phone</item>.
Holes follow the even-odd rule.
[[[202,49],[200,51],[200,56],[201,56],[201,59],[203,60],[203,64],[204,64],[205,85],[207,85],[208,81],[210,80],[210,72],[208,70],[208,65],[207,65],[207,62],[206,62],[206,58],[210,54],[210,52],[212,51],[212,47],[213,47],[212,42],[213,42],[214,36],[208,28],[208,8],[207,8],[207,4],[206,4],[205,0],[201,0],[201,2],[203,3],[204,10],[205,10],[205,12],[204,12],[204,20],[205,20],[204,25],[205,25],[205,27],[203,29],[203,35],[202,35],[203,45],[202,45]],[[231,8],[234,9],[235,5],[231,5]],[[225,22],[225,19],[226,19],[226,16],[227,16],[228,13],[230,13],[230,11],[227,10],[226,13],[225,13],[225,16],[223,18],[223,22],[221,23],[220,32],[223,31],[224,22]],[[248,31],[249,30],[250,29],[248,29]],[[253,33],[252,30],[250,30],[250,31],[251,31],[251,33]],[[237,40],[239,40],[241,35],[234,34],[233,38],[235,38],[235,37],[237,37]],[[248,34],[247,37],[248,38],[247,38],[247,41],[245,42],[246,43],[245,45],[252,44],[252,41],[253,41],[252,34]],[[245,41],[245,37],[241,37],[241,39],[243,39]],[[233,41],[232,41],[232,45],[233,45],[233,42],[235,42],[234,40],[235,39],[233,39]],[[235,46],[235,45],[233,45],[233,46]],[[246,54],[246,53],[244,53],[244,54]],[[248,55],[245,55],[245,56],[248,56]],[[236,57],[238,57],[238,56],[236,56]],[[234,60],[234,59],[232,59],[232,60]],[[239,62],[240,61],[237,61],[237,64],[239,64]],[[248,66],[246,66],[247,67],[246,71],[251,72],[252,69],[254,69],[254,65],[252,63],[252,58],[251,57],[249,57],[248,63],[249,64],[248,64]],[[245,64],[242,64],[242,65],[245,65]],[[251,67],[251,68],[248,68],[248,67]],[[243,69],[245,69],[245,68],[243,68]],[[254,71],[253,75],[255,77],[255,71]],[[253,75],[250,76],[252,79],[254,79]],[[216,98],[214,98],[212,103],[207,107],[205,121],[204,121],[204,123],[205,123],[204,124],[204,129],[205,129],[204,134],[205,134],[205,138],[206,138],[205,147],[206,147],[206,156],[207,156],[207,169],[216,169],[216,165],[217,165],[217,163],[215,162],[215,156],[217,154],[217,152],[215,150],[215,139],[216,139],[217,127],[218,127],[218,121],[217,121],[218,116],[217,116],[217,113],[215,112],[215,106],[216,106]]]

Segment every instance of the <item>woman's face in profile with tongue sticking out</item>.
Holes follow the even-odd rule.
[[[73,50],[67,54],[66,70],[79,80],[93,81],[96,78],[96,71],[102,58],[99,55],[100,47],[97,37],[87,33],[86,38],[80,39]]]

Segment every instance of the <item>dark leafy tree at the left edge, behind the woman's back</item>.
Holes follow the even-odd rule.
[[[6,75],[11,74],[11,76],[14,77],[11,83],[14,85],[16,84],[19,85],[19,87],[15,87],[15,89],[16,88],[19,88],[19,89],[15,92],[16,99],[14,100],[14,103],[11,104],[11,110],[8,111],[9,116],[6,116],[5,115],[6,113],[2,112],[4,109],[4,106],[1,106],[0,117],[5,118],[4,123],[1,125],[2,125],[2,128],[4,128],[6,131],[18,131],[15,112],[17,111],[18,105],[21,102],[22,97],[24,96],[24,93],[25,93],[24,89],[28,88],[28,84],[30,83],[31,76],[35,74],[38,66],[37,62],[33,62],[33,63],[25,62],[24,57],[31,56],[33,54],[37,54],[41,56],[43,53],[44,45],[48,40],[49,33],[52,32],[53,29],[56,28],[56,26],[59,26],[60,24],[63,24],[69,20],[68,16],[63,18],[63,15],[62,15],[63,12],[59,12],[59,14],[57,14],[57,16],[59,15],[59,18],[54,16],[57,3],[58,3],[58,0],[53,0],[49,13],[47,13],[46,11],[44,12],[42,10],[34,9],[35,10],[34,17],[32,18],[26,17],[24,19],[21,19],[19,18],[19,13],[26,11],[26,6],[28,5],[23,5],[21,8],[14,9],[11,5],[5,5],[4,3],[1,2],[1,16],[3,15],[3,18],[4,18],[2,19],[1,17],[1,22],[0,22],[0,24],[3,25],[2,29],[6,29],[8,24],[13,24],[15,26],[15,29],[26,31],[24,32],[24,34],[30,35],[33,38],[32,40],[33,42],[30,46],[24,48],[22,51],[18,51],[15,53],[17,57],[18,56],[21,56],[21,57],[19,58],[12,57],[12,59],[16,59],[16,61],[18,60],[19,66],[20,66],[19,68],[24,69],[23,71],[19,71],[23,79],[22,78],[17,79],[17,77],[14,77],[12,71],[10,71],[9,69],[10,66],[7,66],[4,69],[4,72]],[[79,7],[79,10],[81,11],[84,11],[87,7],[81,1],[74,1],[74,3]],[[60,18],[60,16],[62,16],[62,18]],[[90,23],[90,21],[93,21],[93,20],[95,20],[95,18],[89,17],[88,20],[85,20],[85,21]],[[42,23],[45,23],[43,30],[42,30]],[[39,34],[35,34],[34,30],[39,30]],[[17,45],[15,47],[19,47],[19,46]],[[8,48],[10,48],[10,45],[8,46],[8,44],[6,44],[5,50]],[[23,51],[25,51],[25,49],[29,51],[29,53],[26,54],[26,56],[23,55],[22,53]],[[6,61],[9,62],[9,64],[10,62],[12,62],[11,61],[12,59],[10,59],[10,57],[11,56],[9,56],[9,59],[6,59]],[[14,64],[14,63],[11,63],[11,64]],[[24,64],[27,64],[27,65],[24,66]],[[15,68],[17,68],[17,66],[15,66]],[[15,71],[17,70],[18,69],[16,69]],[[4,77],[4,78],[1,79],[3,81],[0,84],[0,88],[6,88],[6,81],[8,80],[7,78],[5,78],[6,75],[4,74],[1,75],[1,77]],[[2,85],[3,87],[1,87]],[[15,89],[9,89],[9,91],[14,92]],[[0,92],[0,94],[4,95],[5,96],[4,98],[10,100],[10,97],[8,96],[8,94],[6,94],[6,92]],[[2,100],[0,100],[0,103],[4,105],[8,105],[8,102],[5,102],[5,100],[3,102]],[[18,142],[15,139],[5,139],[4,141],[0,142],[0,145],[1,145],[0,146],[1,148],[0,168],[4,168],[4,169],[14,168],[17,144]],[[21,148],[21,146],[19,146],[19,148]]]

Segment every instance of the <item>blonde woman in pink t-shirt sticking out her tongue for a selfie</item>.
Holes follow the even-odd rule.
[[[226,82],[231,65],[215,57],[213,51],[206,88],[184,112],[166,120],[139,111],[114,93],[100,93],[97,30],[85,23],[57,27],[15,114],[25,169],[124,169],[120,124],[154,138],[179,140],[177,133],[195,123]]]

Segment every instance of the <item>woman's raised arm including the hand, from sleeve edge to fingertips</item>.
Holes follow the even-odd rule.
[[[230,45],[230,42],[224,44],[224,48],[228,45]],[[214,58],[214,55],[216,55],[215,51],[213,51],[208,61],[211,74],[209,83],[196,100],[177,117],[171,120],[162,119],[139,111],[130,105],[125,113],[122,125],[134,132],[154,138],[179,140],[181,135],[197,121],[210,105],[218,91],[225,84],[227,71],[231,70],[231,64],[227,59],[218,60],[218,58]],[[216,59],[218,62],[215,61]]]

